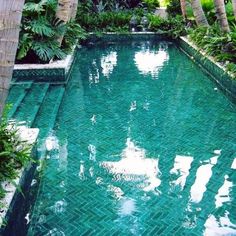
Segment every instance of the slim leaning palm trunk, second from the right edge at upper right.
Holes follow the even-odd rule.
[[[233,0],[234,1],[234,0]],[[223,32],[229,32],[229,23],[225,12],[224,0],[214,0],[216,16]]]

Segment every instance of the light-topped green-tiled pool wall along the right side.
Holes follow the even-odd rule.
[[[197,46],[186,37],[180,37],[178,45],[211,76],[229,98],[236,101],[236,78],[227,72],[225,67],[216,62],[212,57],[206,55],[205,52],[197,48]]]

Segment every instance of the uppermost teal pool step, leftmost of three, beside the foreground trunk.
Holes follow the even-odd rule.
[[[9,95],[7,97],[7,104],[12,105],[12,107],[7,113],[8,120],[14,116],[16,110],[18,109],[21,102],[24,100],[25,96],[30,90],[32,84],[33,84],[32,81],[21,84],[12,84],[9,91]]]

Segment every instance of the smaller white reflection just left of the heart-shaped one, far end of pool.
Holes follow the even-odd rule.
[[[117,64],[117,52],[110,52],[107,56],[102,56],[101,67],[104,76],[109,77]]]

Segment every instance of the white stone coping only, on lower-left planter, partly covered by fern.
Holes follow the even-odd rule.
[[[11,128],[11,125],[9,129]],[[39,129],[37,128],[28,128],[26,126],[18,126],[17,132],[20,135],[20,139],[26,142],[26,145],[34,145],[37,141]],[[32,150],[31,150],[32,151]],[[26,167],[27,168],[27,167]],[[0,204],[3,206],[0,211],[0,228],[4,227],[4,219],[6,218],[6,214],[11,207],[11,203],[13,201],[13,197],[17,191],[17,187],[21,185],[21,178],[23,175],[24,169],[19,170],[18,177],[13,180],[15,184],[12,182],[4,181],[2,183],[3,188],[6,190],[6,195],[3,199],[0,200]]]

